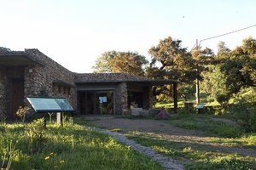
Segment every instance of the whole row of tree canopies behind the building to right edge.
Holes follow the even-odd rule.
[[[137,52],[108,51],[96,59],[95,72],[124,72],[152,79],[176,79],[178,94],[188,99],[195,93],[195,79],[201,80],[203,92],[213,99],[229,99],[241,88],[256,87],[256,40],[245,38],[240,46],[228,48],[218,43],[211,48],[183,48],[182,41],[166,37],[149,48],[148,60]],[[160,100],[171,99],[172,87],[154,87]],[[225,98],[224,98],[225,96]]]

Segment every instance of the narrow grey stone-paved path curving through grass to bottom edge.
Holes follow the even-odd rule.
[[[98,127],[87,127],[91,130],[95,130],[100,133],[105,133],[113,137],[113,139],[118,140],[120,143],[130,145],[133,150],[137,150],[139,153],[148,156],[153,161],[157,161],[160,163],[161,166],[165,167],[166,170],[176,169],[176,170],[182,170],[184,169],[183,164],[179,161],[173,160],[169,156],[163,156],[157,151],[151,149],[150,147],[143,146],[141,144],[137,144],[132,139],[127,139],[124,135],[121,133],[114,133],[110,132],[107,129],[102,129]]]

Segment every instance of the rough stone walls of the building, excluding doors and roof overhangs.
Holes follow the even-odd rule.
[[[31,65],[9,68],[0,66],[0,114],[5,114],[11,107],[11,79],[22,77],[24,79],[24,101],[27,104],[27,96],[42,96],[67,98],[77,110],[77,87],[78,82],[109,82],[114,87],[115,113],[121,114],[127,109],[127,84],[132,81],[150,81],[147,77],[137,77],[125,73],[73,73],[50,59],[38,49],[25,49],[25,51],[11,51],[8,48],[0,48],[0,54],[26,56],[31,59]],[[34,64],[33,64],[34,63]],[[108,83],[107,83],[108,84]],[[108,86],[110,86],[108,84]],[[138,88],[135,86],[134,88]],[[142,86],[140,86],[142,88]],[[144,92],[144,108],[152,106],[151,88],[140,89]]]

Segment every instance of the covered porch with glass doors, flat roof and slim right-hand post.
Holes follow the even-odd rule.
[[[76,82],[78,112],[81,115],[120,115],[131,107],[148,110],[153,106],[152,87],[172,85],[173,111],[177,112],[175,80],[110,80]]]

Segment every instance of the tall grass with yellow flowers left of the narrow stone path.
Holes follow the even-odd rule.
[[[42,140],[33,144],[26,127],[22,123],[0,125],[0,156],[11,156],[10,169],[163,169],[108,135],[78,124],[48,124]],[[3,157],[0,166],[2,162]]]

